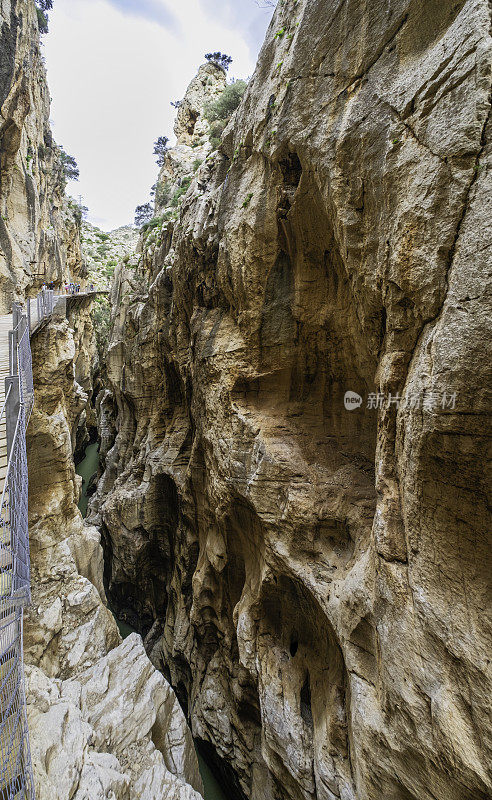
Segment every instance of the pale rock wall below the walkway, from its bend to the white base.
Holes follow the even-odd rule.
[[[121,643],[106,605],[100,534],[77,508],[73,450],[92,393],[91,306],[79,301],[69,319],[53,320],[32,340],[24,655],[36,797],[199,800],[185,717],[140,636]]]

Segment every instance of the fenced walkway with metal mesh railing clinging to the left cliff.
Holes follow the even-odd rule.
[[[34,406],[31,337],[106,290],[43,291],[0,316],[0,800],[34,800],[23,611],[31,599],[26,429]]]

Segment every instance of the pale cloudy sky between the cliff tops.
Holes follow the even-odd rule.
[[[133,221],[149,199],[153,142],[172,137],[170,101],[211,50],[234,58],[231,77],[252,74],[271,9],[262,0],[55,0],[43,37],[59,144],[80,181],[68,191],[105,230]]]

